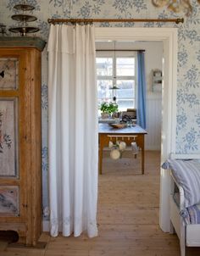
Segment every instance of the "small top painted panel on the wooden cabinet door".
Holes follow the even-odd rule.
[[[0,90],[16,90],[18,88],[18,58],[0,58]]]

